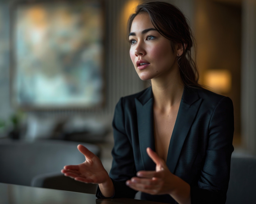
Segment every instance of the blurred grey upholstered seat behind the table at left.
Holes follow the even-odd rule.
[[[95,184],[76,182],[61,174],[68,164],[80,164],[85,157],[77,150],[77,142],[62,140],[0,140],[0,182],[95,193]],[[81,143],[95,155],[100,148]]]

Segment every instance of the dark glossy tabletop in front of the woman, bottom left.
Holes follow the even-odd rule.
[[[0,204],[163,204],[128,198],[97,199],[94,194],[0,183]]]

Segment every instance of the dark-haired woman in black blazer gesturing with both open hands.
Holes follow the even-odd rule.
[[[82,145],[86,161],[65,166],[77,181],[98,183],[97,197],[167,203],[225,203],[233,152],[233,104],[198,85],[193,38],[171,4],[139,4],[128,22],[130,57],[151,87],[120,99],[113,119],[110,175]]]

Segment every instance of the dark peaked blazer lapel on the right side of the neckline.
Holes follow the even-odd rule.
[[[167,155],[167,167],[171,173],[175,171],[183,143],[201,101],[195,88],[184,88]]]

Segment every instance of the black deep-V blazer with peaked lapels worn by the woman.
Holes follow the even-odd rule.
[[[113,197],[134,198],[125,182],[140,170],[155,170],[146,148],[155,150],[151,87],[120,98],[113,119],[110,177]],[[170,172],[190,184],[192,203],[225,203],[234,132],[230,98],[203,88],[184,88],[167,155]],[[98,189],[97,197],[103,197]],[[141,199],[175,203],[170,195]]]

